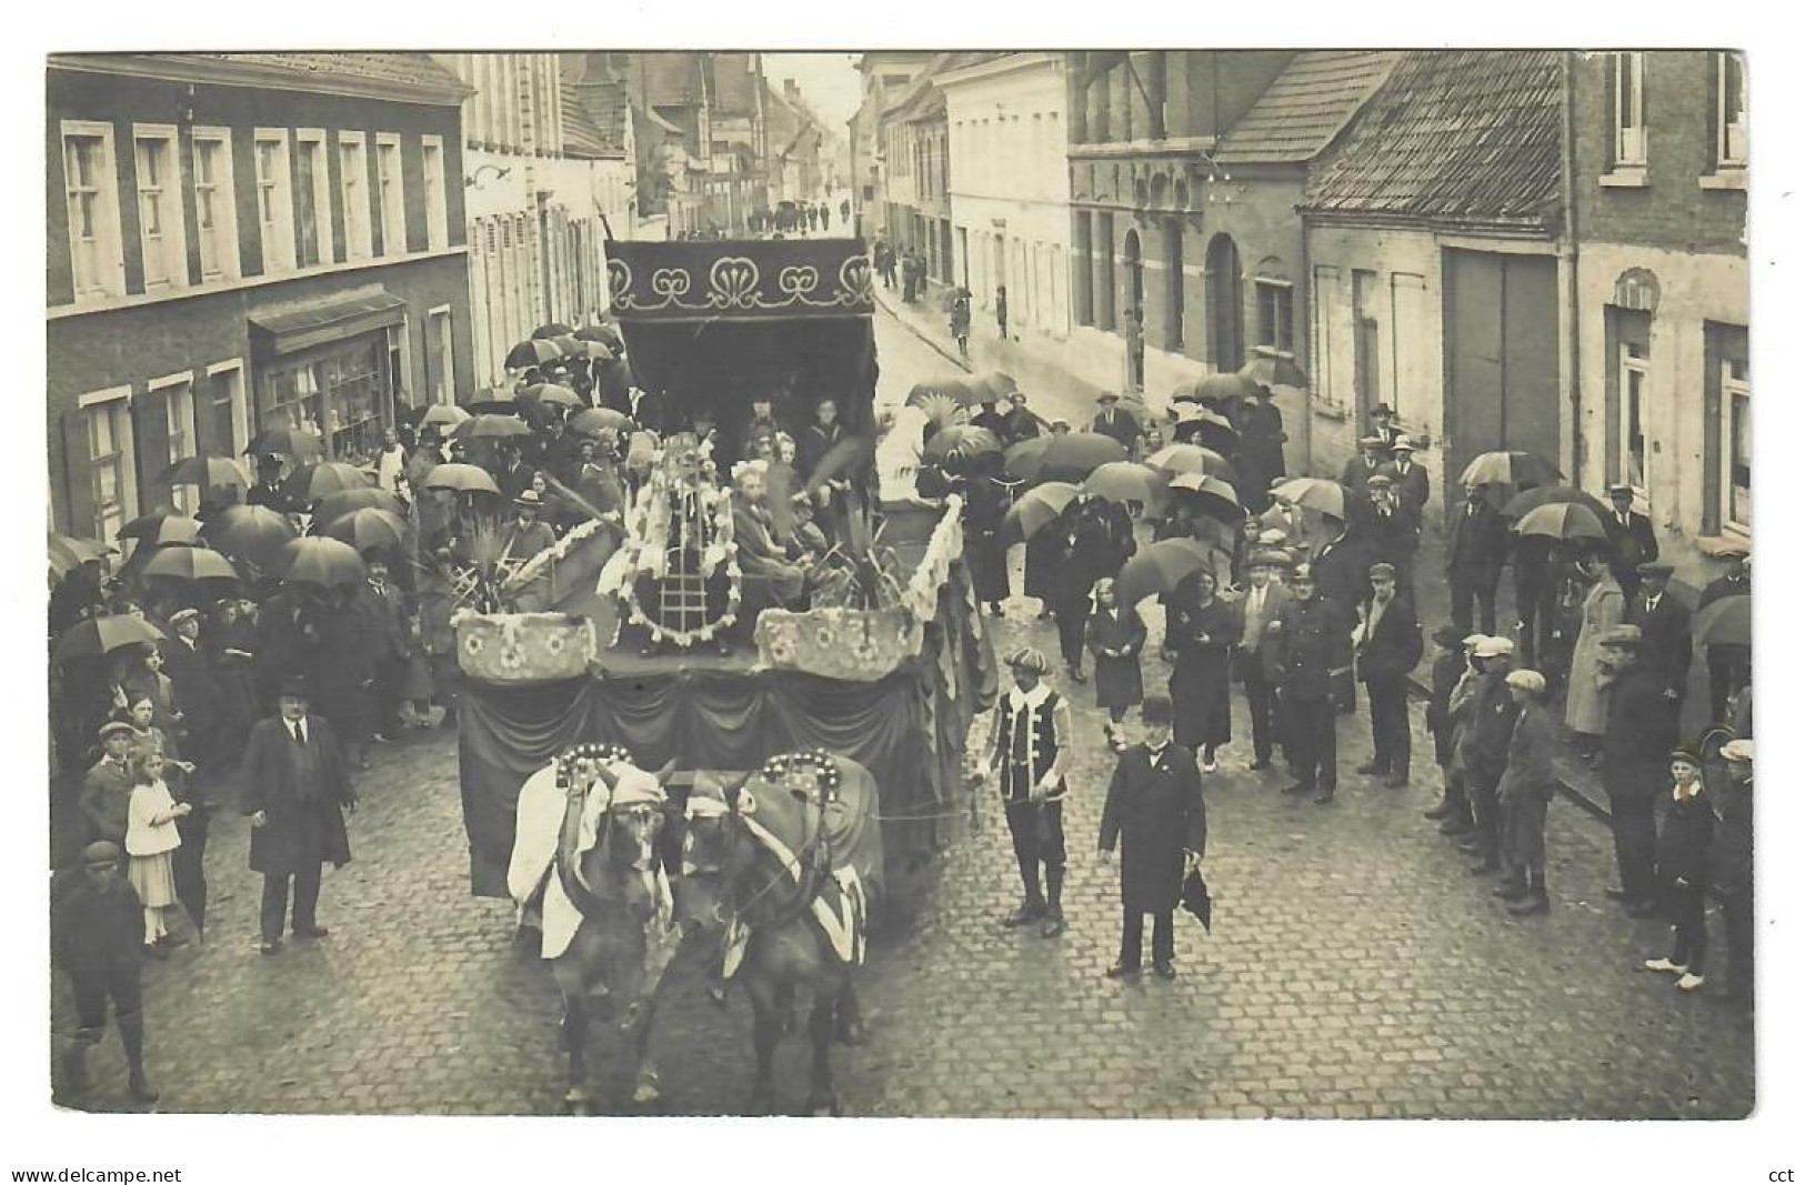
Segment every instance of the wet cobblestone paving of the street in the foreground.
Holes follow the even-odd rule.
[[[953,366],[884,314],[879,400]],[[1011,601],[993,646],[1052,649]],[[1148,685],[1166,667],[1148,646]],[[1206,776],[1215,932],[1179,922],[1179,979],[1101,976],[1115,945],[1115,873],[1094,855],[1108,783],[1105,716],[1067,687],[1081,745],[1067,815],[1070,931],[998,927],[1014,905],[1002,812],[944,855],[908,932],[861,981],[870,1043],[838,1050],[848,1115],[866,1116],[1619,1116],[1729,1118],[1754,1100],[1747,1017],[1639,970],[1666,929],[1603,898],[1610,835],[1556,801],[1552,916],[1513,920],[1491,880],[1421,812],[1437,770],[1417,711],[1408,788],[1354,774],[1365,712],[1339,723],[1330,806],[1247,772],[1245,716]],[[982,729],[986,720],[978,721]],[[549,972],[511,942],[511,907],[467,893],[453,734],[377,747],[359,779],[354,864],[329,873],[330,936],[256,952],[247,826],[222,813],[206,947],[146,970],[159,1109],[193,1113],[554,1115],[563,1059]],[[222,794],[229,799],[229,794]],[[1713,914],[1713,967],[1718,920]],[[56,983],[56,1032],[70,1024]],[[597,1048],[601,1048],[597,1037]],[[708,1003],[693,970],[661,1001],[655,1050],[670,1113],[733,1113],[751,1089],[751,1014]],[[626,1095],[606,1059],[612,1097]],[[128,1109],[117,1041],[94,1057],[90,1106]],[[800,1104],[805,1043],[780,1053]]]

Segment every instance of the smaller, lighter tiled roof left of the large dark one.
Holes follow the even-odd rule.
[[[1314,159],[1384,81],[1397,54],[1305,51],[1273,79],[1260,101],[1222,137],[1227,164],[1291,164]]]

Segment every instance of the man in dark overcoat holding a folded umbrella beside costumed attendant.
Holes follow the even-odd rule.
[[[1141,703],[1146,732],[1115,761],[1097,851],[1105,862],[1121,841],[1123,942],[1110,979],[1141,970],[1141,927],[1153,914],[1153,974],[1171,979],[1171,911],[1184,877],[1204,855],[1204,786],[1191,750],[1171,741],[1171,700]]]

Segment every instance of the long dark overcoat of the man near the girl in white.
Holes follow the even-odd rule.
[[[343,808],[356,803],[345,750],[332,725],[309,716],[307,745],[314,750],[319,785],[312,794],[296,785],[289,745],[296,739],[282,716],[256,721],[238,765],[238,801],[247,815],[265,812],[267,821],[251,831],[251,871],[292,877],[319,868],[350,864],[350,837]]]

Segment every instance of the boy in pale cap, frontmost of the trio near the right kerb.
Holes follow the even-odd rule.
[[[1547,824],[1554,801],[1554,721],[1543,707],[1549,684],[1540,671],[1504,676],[1516,703],[1516,725],[1504,777],[1498,781],[1498,819],[1505,877],[1496,896],[1513,916],[1549,913]]]

